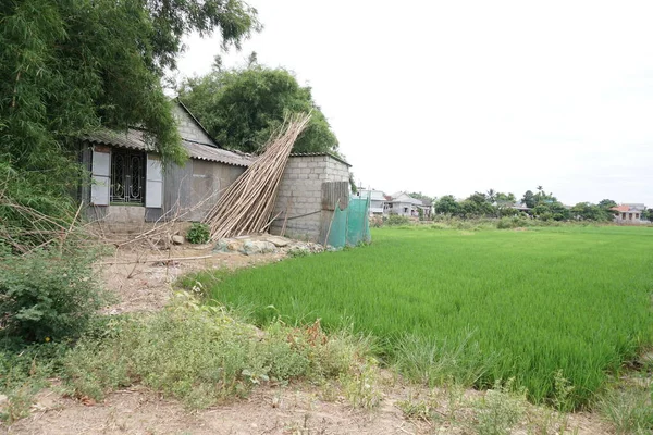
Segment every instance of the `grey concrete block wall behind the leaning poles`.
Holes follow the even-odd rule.
[[[329,156],[294,156],[288,159],[272,216],[270,233],[323,243],[320,231],[332,212],[322,210],[322,183],[348,182],[349,167]]]

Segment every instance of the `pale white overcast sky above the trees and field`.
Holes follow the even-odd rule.
[[[248,3],[263,30],[227,53],[189,36],[177,78],[251,51],[293,71],[357,184],[653,207],[653,2]]]

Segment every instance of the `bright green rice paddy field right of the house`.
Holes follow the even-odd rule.
[[[653,344],[653,228],[381,228],[373,244],[199,275],[261,325],[352,327],[406,376],[514,377],[535,402],[587,403]]]

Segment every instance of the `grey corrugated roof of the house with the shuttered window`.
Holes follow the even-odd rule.
[[[85,136],[84,139],[91,144],[155,151],[155,147],[147,144],[144,132],[133,128],[130,128],[126,133],[99,130]],[[249,166],[255,160],[255,157],[252,156],[237,153],[187,139],[182,139],[182,146],[188,151],[188,156],[192,159],[197,160],[233,164],[235,166]]]

